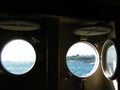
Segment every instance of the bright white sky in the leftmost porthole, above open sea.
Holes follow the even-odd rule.
[[[18,39],[6,44],[1,53],[1,60],[22,62],[35,61],[36,53],[30,43]]]

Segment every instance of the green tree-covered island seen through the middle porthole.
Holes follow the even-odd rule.
[[[95,55],[74,55],[67,56],[66,60],[75,60],[83,63],[92,63],[95,62]]]

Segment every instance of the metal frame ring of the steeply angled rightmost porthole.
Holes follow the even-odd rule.
[[[106,51],[110,47],[110,45],[112,45],[112,44],[114,45],[115,50],[116,50],[116,69],[111,76],[108,76],[106,74],[105,69],[104,69],[104,67],[106,67],[106,66],[104,66],[104,65],[105,65],[105,62],[106,62],[106,54],[107,54]],[[102,52],[101,52],[101,67],[102,67],[102,71],[103,71],[104,76],[109,80],[114,80],[118,76],[118,71],[119,71],[118,67],[119,67],[119,63],[120,63],[119,60],[118,60],[119,57],[120,57],[119,52],[120,52],[119,44],[114,38],[110,38],[110,39],[108,39],[104,42],[103,47],[102,47]]]

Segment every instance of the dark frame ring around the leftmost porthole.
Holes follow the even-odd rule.
[[[27,72],[25,72],[25,73],[23,73],[23,74],[13,74],[13,73],[11,73],[11,72],[9,72],[8,70],[5,69],[5,67],[2,65],[2,61],[1,61],[1,57],[0,57],[0,68],[1,68],[1,71],[2,71],[2,73],[4,73],[4,74],[10,75],[10,76],[11,76],[11,75],[12,75],[12,76],[16,76],[16,77],[17,77],[17,76],[20,77],[20,76],[24,76],[24,75],[30,74],[30,73],[34,70],[34,68],[36,67],[36,64],[37,64],[37,49],[36,49],[36,47],[35,47],[35,45],[34,45],[34,42],[32,42],[31,39],[26,38],[26,37],[19,37],[19,36],[17,36],[17,37],[11,37],[11,38],[5,40],[5,41],[4,41],[4,44],[2,45],[2,48],[1,48],[0,56],[1,56],[1,54],[2,54],[2,50],[4,49],[4,47],[5,47],[9,42],[14,41],[14,40],[23,40],[23,41],[26,41],[26,42],[28,42],[28,43],[33,47],[33,49],[34,49],[34,51],[35,51],[35,54],[36,54],[35,63],[34,63],[34,65],[32,66],[32,68],[31,68],[29,71],[27,71]]]

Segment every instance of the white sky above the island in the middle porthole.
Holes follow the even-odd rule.
[[[67,56],[73,56],[73,55],[95,55],[96,51],[91,48],[90,45],[83,43],[83,42],[78,42],[73,44],[68,52]]]

